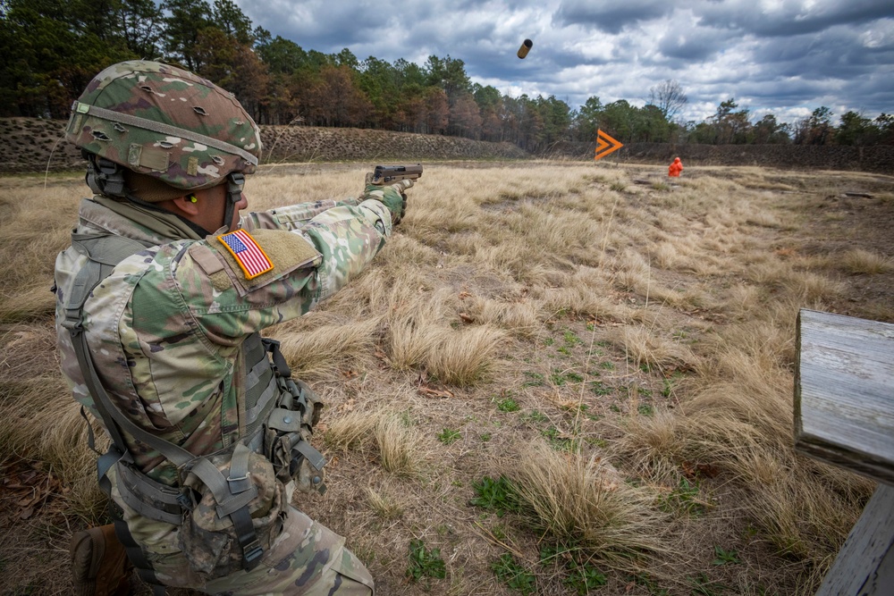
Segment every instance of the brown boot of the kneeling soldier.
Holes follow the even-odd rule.
[[[72,577],[76,596],[126,596],[131,593],[131,562],[114,535],[114,525],[72,536]]]

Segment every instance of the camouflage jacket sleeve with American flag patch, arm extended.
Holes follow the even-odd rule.
[[[271,268],[254,273],[221,237],[181,251],[172,264],[182,299],[207,339],[238,345],[247,334],[307,313],[358,275],[384,246],[391,214],[379,201],[335,206],[296,231],[256,228],[249,238]]]

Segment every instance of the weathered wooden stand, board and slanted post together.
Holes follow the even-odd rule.
[[[894,593],[894,325],[798,313],[795,449],[881,481],[817,596]]]

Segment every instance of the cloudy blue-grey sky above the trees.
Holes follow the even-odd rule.
[[[734,98],[753,120],[825,105],[894,113],[894,0],[234,0],[254,25],[325,54],[462,60],[510,97],[645,105],[677,80],[681,116]],[[534,42],[519,60],[524,39]]]

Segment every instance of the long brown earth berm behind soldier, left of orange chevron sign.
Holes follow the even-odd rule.
[[[80,150],[64,138],[65,121],[0,119],[0,172],[83,169]],[[527,159],[510,143],[366,129],[262,126],[262,164],[287,162],[425,162],[451,159]]]

